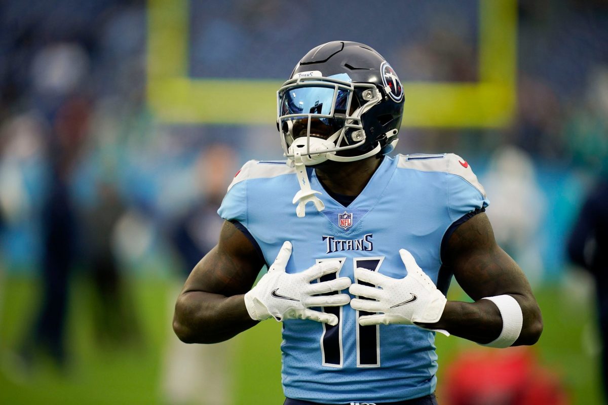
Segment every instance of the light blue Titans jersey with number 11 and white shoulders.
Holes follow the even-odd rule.
[[[299,191],[294,169],[285,162],[247,162],[218,213],[237,220],[257,241],[267,263],[283,242],[293,253],[286,271],[340,259],[339,276],[365,267],[390,277],[406,276],[399,249],[445,293],[451,274],[439,274],[446,231],[488,200],[477,177],[454,154],[384,157],[365,189],[348,207],[331,198],[309,169],[325,209],[306,206],[299,218],[291,201]],[[334,277],[331,274],[330,277]],[[348,293],[348,291],[342,291]],[[335,327],[309,320],[283,322],[285,396],[324,403],[390,402],[434,392],[435,334],[413,325],[361,327],[350,305],[325,308],[339,316]]]

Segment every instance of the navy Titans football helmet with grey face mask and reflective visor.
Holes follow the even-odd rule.
[[[311,49],[277,92],[277,127],[289,160],[351,162],[395,148],[403,87],[367,45],[332,41]]]

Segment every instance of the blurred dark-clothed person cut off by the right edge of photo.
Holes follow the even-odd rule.
[[[568,239],[568,256],[595,281],[601,338],[601,386],[608,398],[608,172],[586,197]]]

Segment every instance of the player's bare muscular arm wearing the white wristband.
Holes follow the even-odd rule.
[[[513,345],[536,343],[542,332],[541,310],[522,270],[497,245],[485,213],[458,226],[449,239],[443,265],[451,268],[458,284],[475,302],[447,301],[440,321],[425,327],[489,343],[500,335],[502,318],[496,305],[482,298],[508,294],[523,313],[522,331]]]

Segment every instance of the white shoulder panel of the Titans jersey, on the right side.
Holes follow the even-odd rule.
[[[485,189],[483,189],[483,186],[481,183],[479,183],[479,180],[477,180],[477,176],[472,171],[469,163],[467,163],[465,159],[453,153],[438,155],[399,155],[397,167],[402,169],[415,169],[425,172],[445,172],[448,174],[457,175],[477,188],[479,192],[482,193],[483,197],[486,196]]]

